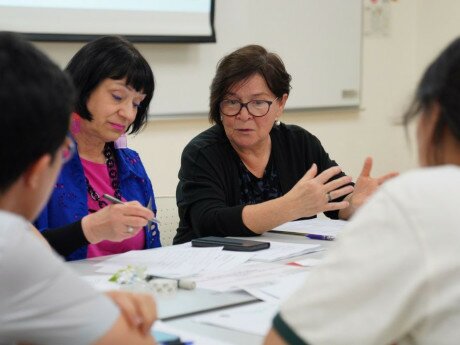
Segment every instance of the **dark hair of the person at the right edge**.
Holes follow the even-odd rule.
[[[435,125],[433,146],[439,149],[445,128],[460,142],[460,38],[450,43],[423,74],[403,117],[406,128],[412,119],[429,113],[435,104],[439,105],[440,116]]]

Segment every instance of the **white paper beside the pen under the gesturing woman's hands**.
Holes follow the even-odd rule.
[[[273,230],[278,232],[337,236],[346,224],[347,222],[344,220],[315,218],[284,223]]]

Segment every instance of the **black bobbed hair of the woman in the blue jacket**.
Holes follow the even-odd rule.
[[[92,120],[86,107],[93,90],[105,79],[126,78],[126,84],[146,96],[141,102],[130,133],[137,133],[147,122],[147,111],[155,90],[153,72],[141,53],[119,36],[103,36],[83,46],[66,67],[77,89],[75,111]]]

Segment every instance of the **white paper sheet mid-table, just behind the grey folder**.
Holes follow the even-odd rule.
[[[238,291],[246,287],[279,282],[285,276],[301,270],[303,268],[296,266],[248,262],[232,270],[202,273],[192,278],[201,289]]]

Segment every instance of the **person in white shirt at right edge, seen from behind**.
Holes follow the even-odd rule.
[[[460,38],[426,70],[416,117],[421,168],[355,214],[266,344],[459,344]]]

